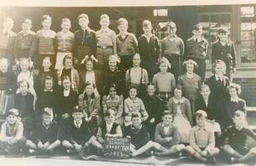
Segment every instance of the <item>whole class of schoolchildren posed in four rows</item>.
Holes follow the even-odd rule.
[[[79,15],[78,22],[81,29],[73,34],[64,18],[56,34],[51,17],[44,15],[42,30],[32,32],[31,20],[25,19],[15,34],[13,20],[5,18],[0,34],[0,116],[6,116],[1,150],[53,154],[62,145],[68,154],[102,155],[106,136],[125,136],[131,138],[132,157],[187,151],[216,163],[214,157],[223,150],[236,163],[256,156],[256,149],[247,147],[247,136],[256,140],[256,134],[246,127],[241,87],[230,83],[236,55],[227,28],[218,30],[212,45],[214,75],[205,80],[207,40],[199,24],[185,49],[174,22],[167,24],[169,35],[161,46],[148,20],[139,40],[127,32],[125,18],[119,19],[117,35],[108,28],[106,14],[97,32],[88,27],[88,15]],[[34,54],[41,65],[38,75],[32,71]],[[18,65],[16,75],[13,64]]]

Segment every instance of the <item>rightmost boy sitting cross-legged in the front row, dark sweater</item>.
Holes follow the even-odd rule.
[[[251,136],[256,140],[256,133],[249,128],[245,128],[246,116],[245,113],[238,110],[234,112],[232,126],[224,130],[220,136],[223,141],[223,149],[226,153],[231,155],[230,163],[242,163],[256,157],[256,147],[248,149],[247,136]],[[224,140],[228,138],[228,143],[225,144]]]

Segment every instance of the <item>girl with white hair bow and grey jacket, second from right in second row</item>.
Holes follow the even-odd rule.
[[[187,60],[183,63],[186,73],[181,75],[178,79],[179,85],[182,86],[184,97],[189,99],[191,104],[192,116],[195,116],[195,100],[199,96],[199,89],[201,88],[201,77],[194,73],[197,69],[197,63],[194,60]]]

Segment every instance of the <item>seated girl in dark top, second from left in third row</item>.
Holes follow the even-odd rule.
[[[44,108],[51,108],[56,118],[57,93],[53,77],[46,76],[44,79],[44,89],[38,93],[38,101],[36,102],[36,119],[42,118]]]

